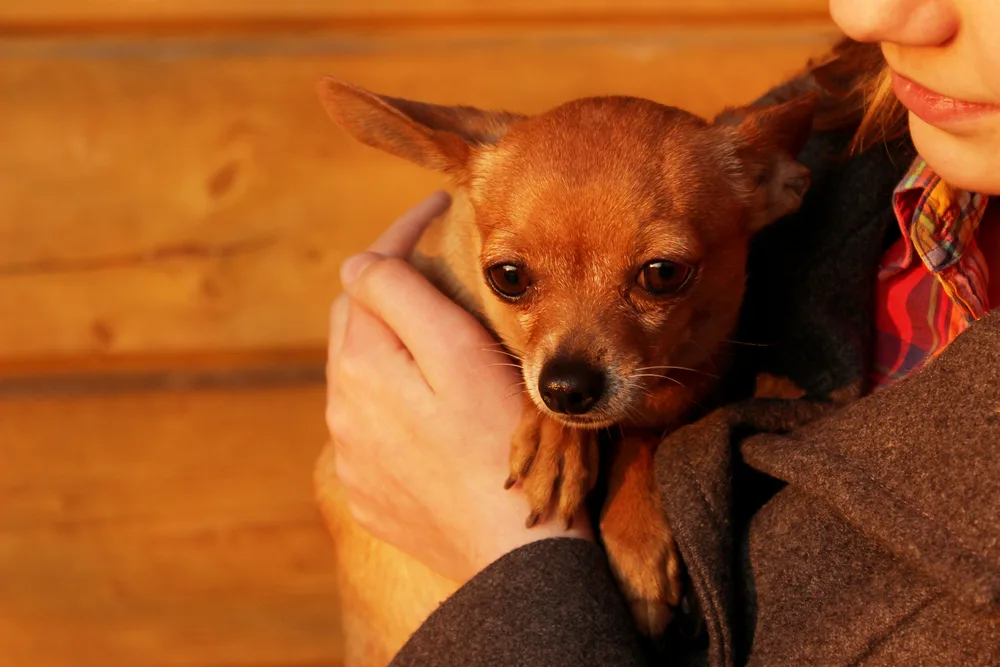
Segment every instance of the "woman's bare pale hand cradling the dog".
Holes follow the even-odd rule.
[[[407,212],[341,269],[332,309],[321,502],[334,477],[374,536],[464,582],[503,554],[554,536],[590,538],[585,517],[527,529],[504,491],[522,410],[521,377],[465,310],[405,258],[446,194]]]

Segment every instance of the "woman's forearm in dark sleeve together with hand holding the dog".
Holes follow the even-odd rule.
[[[345,262],[318,483],[335,475],[362,527],[465,582],[396,664],[642,664],[587,517],[528,529],[522,493],[503,489],[519,374],[402,259],[447,203],[432,197]]]

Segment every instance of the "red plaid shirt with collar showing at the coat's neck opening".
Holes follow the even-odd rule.
[[[989,269],[976,243],[987,204],[921,158],[896,187],[902,238],[882,258],[876,286],[876,387],[916,371],[989,312]]]

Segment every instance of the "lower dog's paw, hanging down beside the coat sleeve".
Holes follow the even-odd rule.
[[[659,523],[643,526],[607,516],[601,522],[611,571],[639,631],[649,637],[670,624],[683,594],[680,553],[666,522]]]

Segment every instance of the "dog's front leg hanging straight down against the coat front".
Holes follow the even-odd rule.
[[[643,634],[670,623],[681,598],[681,559],[653,471],[658,438],[626,434],[614,449],[601,536],[611,570]]]

